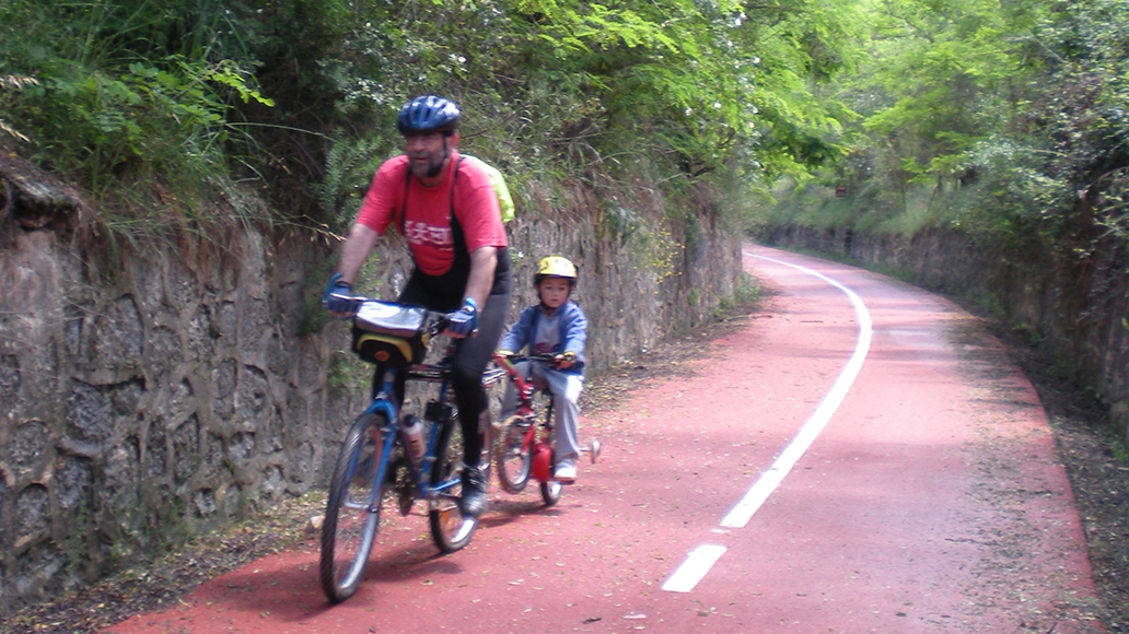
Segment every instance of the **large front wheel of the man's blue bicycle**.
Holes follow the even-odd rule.
[[[386,490],[376,478],[384,450],[380,432],[386,426],[383,414],[358,417],[349,428],[333,469],[322,522],[318,572],[322,590],[334,604],[357,591],[376,538]]]

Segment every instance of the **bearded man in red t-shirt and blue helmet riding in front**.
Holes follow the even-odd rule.
[[[435,95],[404,104],[396,121],[404,153],[380,165],[368,188],[338,271],[325,292],[326,308],[351,316],[352,283],[390,226],[408,239],[412,271],[399,301],[452,312],[456,338],[452,388],[463,430],[463,494],[460,510],[479,517],[487,507],[485,468],[490,408],[482,373],[506,327],[513,280],[498,197],[482,162],[458,153],[458,106]],[[402,385],[397,386],[402,395]]]

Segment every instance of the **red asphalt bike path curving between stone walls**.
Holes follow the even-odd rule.
[[[1104,632],[1045,415],[998,343],[875,273],[759,246],[745,266],[763,310],[585,416],[603,454],[555,507],[491,484],[470,546],[441,556],[418,504],[344,604],[310,538],[106,632]],[[859,358],[846,290],[873,327],[857,376],[747,522],[723,526]],[[664,590],[701,546],[716,563]]]

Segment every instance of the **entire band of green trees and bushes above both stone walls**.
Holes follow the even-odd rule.
[[[610,231],[695,222],[706,191],[734,231],[960,228],[1085,261],[1129,245],[1127,24],[1118,0],[3,0],[0,144],[112,240],[340,234],[434,91],[519,208],[583,184]]]

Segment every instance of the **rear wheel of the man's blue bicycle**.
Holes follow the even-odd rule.
[[[428,502],[428,523],[431,527],[431,539],[439,551],[454,553],[471,543],[479,525],[476,519],[464,518],[458,510],[458,500],[463,493],[463,432],[457,421],[448,421],[446,429],[440,430],[435,456],[431,486],[440,487],[445,483],[450,485]]]

